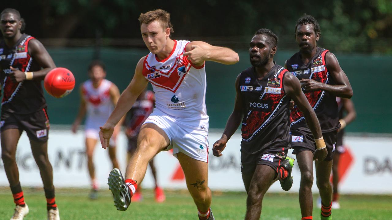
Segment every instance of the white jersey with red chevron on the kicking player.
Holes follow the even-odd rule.
[[[149,53],[143,62],[143,76],[152,84],[158,110],[179,119],[208,120],[205,65],[196,67],[183,56],[188,43],[174,40],[174,47],[164,60]]]

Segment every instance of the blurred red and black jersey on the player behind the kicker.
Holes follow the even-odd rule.
[[[154,92],[147,90],[136,99],[132,108],[125,115],[125,134],[128,138],[136,137],[139,134],[140,127],[147,117],[151,114],[155,106]]]

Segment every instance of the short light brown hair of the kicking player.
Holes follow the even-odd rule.
[[[149,24],[154,21],[159,21],[162,25],[163,30],[170,28],[170,33],[174,32],[173,25],[170,22],[170,14],[163,9],[156,9],[154,11],[147,11],[139,16],[140,25],[143,23]]]

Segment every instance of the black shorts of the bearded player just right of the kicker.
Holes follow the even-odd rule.
[[[245,175],[253,175],[258,164],[272,167],[278,172],[278,167],[287,156],[287,147],[266,148],[257,153],[247,153],[241,150],[241,172]]]

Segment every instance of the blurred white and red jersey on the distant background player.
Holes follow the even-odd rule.
[[[87,108],[86,129],[99,128],[112,113],[114,105],[109,92],[111,86],[112,82],[107,79],[102,79],[98,88],[94,88],[91,80],[83,83],[82,92]]]

